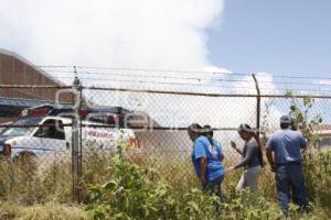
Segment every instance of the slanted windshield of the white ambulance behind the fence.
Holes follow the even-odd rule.
[[[14,125],[36,125],[42,118],[20,119],[12,124],[12,128],[7,128],[1,131],[3,136],[26,136],[35,129],[35,127],[14,127]]]

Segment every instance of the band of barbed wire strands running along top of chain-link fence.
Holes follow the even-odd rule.
[[[76,67],[78,72],[78,76],[82,80],[85,80],[86,82],[90,81],[106,81],[106,82],[126,82],[126,84],[149,84],[151,86],[153,85],[166,85],[166,86],[181,86],[184,88],[188,87],[210,87],[210,88],[233,88],[233,89],[246,89],[247,92],[255,91],[255,85],[253,81],[252,74],[241,74],[241,73],[231,73],[231,72],[192,72],[192,70],[172,70],[172,69],[148,69],[148,68],[129,68],[129,67],[93,67],[93,66],[55,66],[55,65],[49,65],[49,66],[31,66],[35,68],[41,68],[42,70],[46,73],[54,73],[57,74],[57,76],[54,76],[54,74],[51,74],[50,76],[45,76],[50,79],[55,80],[65,80],[68,81],[70,79],[73,79],[74,77],[74,67]],[[86,70],[87,69],[87,70]],[[96,72],[93,72],[96,70]],[[98,72],[98,70],[111,70],[117,73],[108,73],[108,72]],[[18,69],[15,69],[18,72]],[[125,73],[120,73],[125,72]],[[134,73],[132,73],[134,72]],[[154,74],[163,74],[163,75],[153,75]],[[169,73],[170,75],[166,75],[166,73]],[[203,74],[204,77],[200,76],[182,76],[181,74]],[[61,74],[73,74],[73,76],[58,76]],[[172,75],[178,74],[178,75]],[[206,76],[206,74],[209,74]],[[223,75],[225,77],[216,78],[216,75]],[[93,77],[86,77],[86,76],[93,76]],[[94,77],[95,76],[95,77]],[[105,76],[102,78],[98,78],[97,76]],[[113,76],[114,78],[106,78],[108,76]],[[298,92],[331,92],[331,90],[325,89],[325,87],[331,86],[331,78],[321,78],[321,77],[311,77],[311,76],[288,76],[288,75],[266,75],[266,77],[273,77],[276,79],[282,78],[282,79],[293,79],[292,81],[289,80],[266,80],[264,78],[264,74],[256,74],[258,78],[258,84],[261,90],[265,92],[270,92],[271,90],[275,90],[275,92],[281,92],[287,90],[298,91]],[[128,78],[135,78],[132,80],[130,79],[118,79],[117,77],[128,77]],[[237,78],[235,78],[237,77]],[[239,78],[243,77],[243,78]],[[245,77],[249,77],[248,79]],[[154,79],[154,80],[148,80],[148,78]],[[169,79],[169,80],[164,80]],[[252,79],[252,80],[249,80]],[[311,81],[310,79],[313,79],[314,81]],[[185,80],[185,81],[183,81]],[[193,84],[191,80],[199,81],[199,84]],[[310,81],[307,81],[310,80]],[[320,80],[316,82],[317,80]],[[324,80],[324,81],[323,81]],[[330,80],[330,84],[328,82]],[[188,82],[189,81],[189,82]],[[210,82],[210,84],[205,84]],[[242,82],[242,84],[228,84],[228,82]],[[245,87],[244,85],[249,85]],[[275,88],[273,86],[275,86]],[[305,88],[300,88],[305,87]],[[273,92],[273,91],[271,91]]]

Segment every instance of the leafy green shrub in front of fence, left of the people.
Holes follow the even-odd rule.
[[[89,187],[86,210],[94,219],[211,219],[216,197],[201,190],[177,191],[154,172],[114,158],[113,179]]]

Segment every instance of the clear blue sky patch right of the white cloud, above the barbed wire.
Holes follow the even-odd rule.
[[[233,72],[331,77],[330,0],[227,0],[209,58]]]

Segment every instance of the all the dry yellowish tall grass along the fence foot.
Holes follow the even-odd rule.
[[[226,164],[226,166],[228,165],[229,164]],[[189,156],[164,158],[159,155],[150,155],[139,161],[139,165],[135,166],[139,167],[139,170],[142,172],[141,175],[148,176],[149,186],[167,186],[167,194],[178,195],[174,197],[170,196],[173,202],[181,201],[183,195],[192,196],[192,194],[194,194],[192,198],[206,199],[197,193],[192,193],[192,189],[199,188],[199,180],[194,175]],[[331,210],[331,151],[319,153],[314,156],[306,156],[303,166],[307,191],[314,210],[307,216],[307,219],[308,217],[310,219],[331,218],[329,211]],[[50,208],[50,210],[47,210],[50,213],[45,213],[47,216],[55,215],[51,212],[60,210],[58,207],[62,207],[61,204],[64,204],[63,206],[72,206],[75,202],[72,195],[73,184],[71,168],[71,163],[66,160],[53,161],[51,165],[42,172],[38,172],[38,169],[31,172],[26,165],[15,164],[10,160],[0,160],[0,199],[2,202],[6,202],[6,206],[1,206],[0,213],[14,213],[17,211],[12,210],[15,209],[25,211],[32,210],[30,207],[34,207],[35,210],[43,212],[47,210],[47,208],[43,209],[43,206],[50,208],[50,204],[54,204],[54,209]],[[93,191],[88,190],[90,185],[104,185],[114,179],[115,174],[116,166],[114,166],[113,157],[105,156],[105,154],[98,152],[85,154],[81,182],[84,198],[83,202],[90,204],[93,199]],[[234,207],[239,206],[242,199],[244,199],[238,197],[234,191],[241,175],[241,170],[234,175],[226,175],[222,184],[223,193],[229,199],[229,207],[226,208],[229,216],[231,210],[238,211],[239,208]],[[148,188],[146,190],[148,191]],[[158,188],[158,190],[163,189],[161,187]],[[275,174],[266,166],[259,176],[259,195],[263,196],[263,198],[261,200],[254,201],[252,206],[248,206],[250,207],[250,211],[254,210],[254,216],[261,215],[260,212],[268,208],[267,206],[261,206],[260,202],[267,202],[270,207],[274,207],[273,209],[277,209],[275,193]],[[189,200],[186,201],[189,202]],[[243,209],[249,211],[246,208]],[[79,212],[79,208],[75,208],[75,211]],[[20,212],[20,215],[23,213]],[[85,218],[84,213],[82,215]],[[233,216],[233,219],[234,217],[239,216]],[[228,219],[231,218],[228,217]]]

